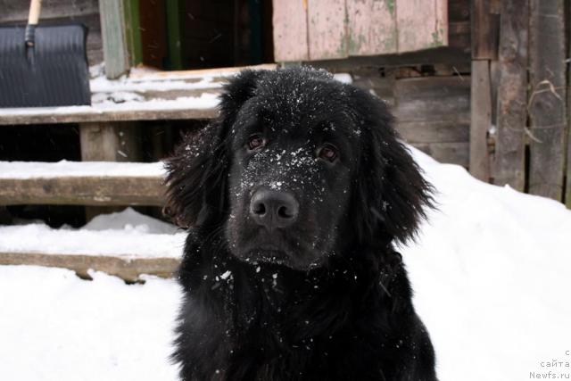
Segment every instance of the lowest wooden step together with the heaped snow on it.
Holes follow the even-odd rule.
[[[103,270],[128,280],[143,273],[170,276],[186,234],[173,225],[127,208],[100,215],[83,228],[44,223],[0,226],[0,264],[32,264]]]

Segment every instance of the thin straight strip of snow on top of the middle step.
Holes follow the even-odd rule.
[[[165,174],[162,162],[0,162],[0,178],[150,177]]]

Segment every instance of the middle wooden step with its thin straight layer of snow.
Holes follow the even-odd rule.
[[[158,205],[161,162],[0,162],[0,205]]]

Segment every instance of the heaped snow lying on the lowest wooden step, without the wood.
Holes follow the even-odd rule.
[[[179,258],[185,238],[173,225],[127,208],[95,217],[79,229],[55,229],[44,223],[0,226],[0,253]]]

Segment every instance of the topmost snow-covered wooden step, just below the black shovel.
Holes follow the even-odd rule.
[[[276,67],[265,64],[248,68]],[[0,125],[208,120],[218,115],[218,95],[223,84],[243,69],[135,72],[116,80],[99,75],[90,81],[90,106],[4,108],[0,109]]]

